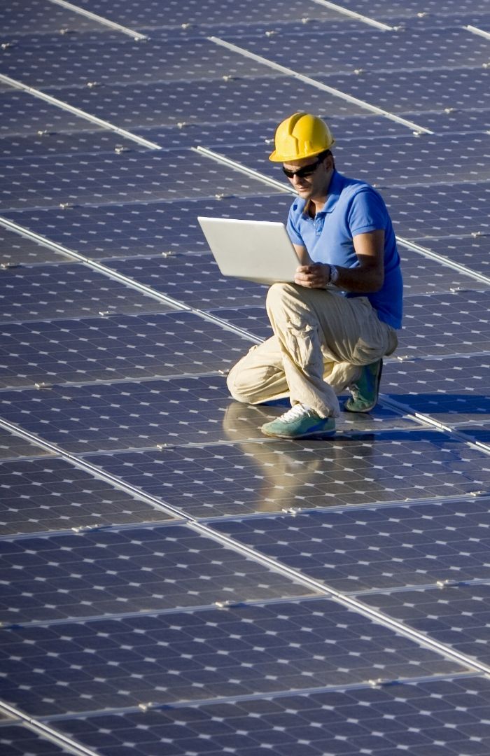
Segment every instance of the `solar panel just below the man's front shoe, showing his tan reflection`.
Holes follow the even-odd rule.
[[[272,412],[254,414],[259,427]],[[485,489],[490,479],[483,451],[424,430],[354,434],[327,445],[274,440],[121,451],[90,461],[193,517],[457,496]]]

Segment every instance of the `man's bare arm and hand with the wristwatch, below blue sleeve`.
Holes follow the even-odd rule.
[[[353,237],[354,251],[359,265],[341,268],[336,265],[337,288],[353,293],[372,294],[380,290],[384,281],[384,231],[369,231]],[[299,265],[294,283],[309,289],[324,289],[330,283],[331,270],[326,262]]]

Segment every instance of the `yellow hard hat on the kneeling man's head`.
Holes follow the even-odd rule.
[[[330,150],[335,139],[327,124],[311,113],[293,113],[278,125],[275,150],[269,155],[274,163],[287,163]]]

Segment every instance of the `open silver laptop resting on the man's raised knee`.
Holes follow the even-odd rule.
[[[299,265],[284,223],[198,217],[224,276],[256,283],[291,282]]]

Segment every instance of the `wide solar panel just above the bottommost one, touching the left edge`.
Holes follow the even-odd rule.
[[[467,671],[321,598],[11,626],[3,652],[11,675],[5,694],[37,717],[109,701],[125,707],[349,685],[364,681],[373,665],[388,680]]]

